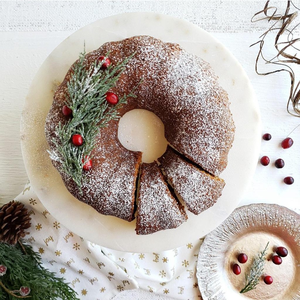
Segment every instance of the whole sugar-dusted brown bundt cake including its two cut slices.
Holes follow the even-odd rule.
[[[139,214],[139,211],[143,213],[141,212],[141,216],[137,217],[137,223],[140,224],[137,233],[148,234],[176,227],[186,219],[186,214],[178,204],[176,194],[172,195],[168,192],[171,188],[170,184],[174,185],[175,192],[186,201],[187,208],[196,214],[210,207],[221,194],[223,181],[214,176],[218,176],[226,168],[235,131],[227,93],[219,85],[210,65],[182,49],[178,44],[165,43],[149,36],[135,36],[122,41],[105,43],[99,49],[86,54],[83,63],[86,68],[92,67],[99,56],[107,53],[113,67],[134,54],[126,64],[119,80],[115,82],[115,86],[110,88],[110,92],[121,98],[131,93],[143,79],[134,90],[136,98],[128,98],[127,103],[118,109],[119,116],[137,108],[155,113],[164,123],[168,143],[180,153],[180,158],[175,154],[173,163],[168,160],[167,157],[171,155],[169,148],[166,159],[160,159],[166,178],[159,173],[154,164],[150,164],[149,167],[142,164],[141,167],[142,153],[130,151],[122,146],[118,139],[119,120],[112,119],[106,127],[99,129],[95,146],[90,153],[92,167],[90,163],[89,167],[84,168],[85,180],[80,184],[76,183],[63,167],[64,157],[58,154],[62,142],[57,135],[58,126],[66,124],[69,122],[68,118],[72,118],[72,111],[69,117],[66,117],[67,114],[62,111],[65,104],[70,101],[68,82],[74,72],[71,67],[64,81],[55,91],[46,118],[45,133],[52,153],[50,155],[52,163],[61,174],[67,189],[77,199],[91,205],[101,214],[127,221],[134,219],[135,198],[139,194],[137,182],[139,170],[142,168],[141,179],[144,178],[145,182],[141,183],[142,190],[137,213]],[[109,104],[108,109],[110,106],[112,105]],[[80,124],[78,126],[80,127]],[[84,146],[85,133],[80,130]],[[68,138],[73,141],[72,136]],[[83,147],[80,144],[77,146]],[[72,147],[70,149],[73,149]],[[71,151],[76,152],[76,149]],[[187,164],[184,162],[185,158]],[[82,157],[82,161],[85,159],[86,157]],[[191,162],[193,164],[190,164]],[[186,167],[176,167],[173,164],[178,166],[186,164]],[[187,170],[187,174],[181,179],[179,173],[183,169]],[[159,179],[147,175],[147,172],[158,174]],[[199,176],[199,172],[202,176]],[[188,177],[193,174],[198,174],[195,179],[199,182],[193,186],[186,186],[186,189],[195,189],[196,194],[196,189],[202,184],[207,184],[207,189],[201,189],[201,191],[207,190],[207,194],[200,193],[192,204],[191,198],[184,196],[180,181],[190,182]],[[170,182],[168,184],[165,182],[163,185],[162,181],[167,179]],[[167,196],[158,195],[154,191],[152,194],[145,193],[155,180],[161,182],[160,189],[155,192],[165,193]],[[142,224],[147,221],[147,218],[142,217],[142,214],[145,216],[147,211],[145,205],[147,203],[150,205],[152,201],[145,199],[146,195],[152,195],[153,199],[163,197],[169,205],[164,207],[170,207],[170,214],[161,221],[161,226],[149,227]],[[196,207],[197,205],[199,207]],[[176,214],[174,211],[177,211]],[[176,220],[170,220],[168,223],[167,217],[172,218],[174,215]]]

